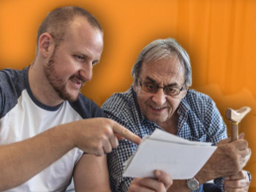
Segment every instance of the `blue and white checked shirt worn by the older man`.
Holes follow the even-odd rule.
[[[144,138],[155,129],[157,124],[145,118],[139,109],[136,93],[132,86],[124,93],[115,93],[101,107],[108,118],[128,128]],[[194,90],[188,90],[177,109],[179,116],[177,136],[193,141],[212,142],[216,145],[227,138],[226,125],[212,99]],[[122,177],[123,163],[136,151],[138,145],[128,141],[119,141],[119,146],[108,154],[108,170],[112,192],[126,192],[132,178]],[[223,188],[221,179],[214,182]],[[195,190],[195,192],[199,192]]]

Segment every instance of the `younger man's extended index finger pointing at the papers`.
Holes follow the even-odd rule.
[[[129,131],[128,129],[126,129],[125,127],[123,127],[122,125],[115,123],[112,125],[112,129],[113,132],[119,135],[120,137],[124,137],[125,139],[130,140],[133,143],[136,143],[137,145],[140,145],[141,138],[132,133],[131,131]]]

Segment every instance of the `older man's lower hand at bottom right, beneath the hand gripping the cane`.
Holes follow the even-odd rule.
[[[224,187],[226,192],[247,192],[250,181],[246,171],[240,171],[235,175],[225,178]]]

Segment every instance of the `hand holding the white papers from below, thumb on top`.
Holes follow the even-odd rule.
[[[172,178],[163,171],[154,171],[156,178],[135,178],[129,192],[166,192],[172,185]]]

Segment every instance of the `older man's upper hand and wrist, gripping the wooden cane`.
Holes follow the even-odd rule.
[[[205,179],[235,175],[243,169],[251,149],[248,148],[248,142],[241,138],[233,142],[228,138],[218,143],[217,149],[202,168],[209,177]]]

